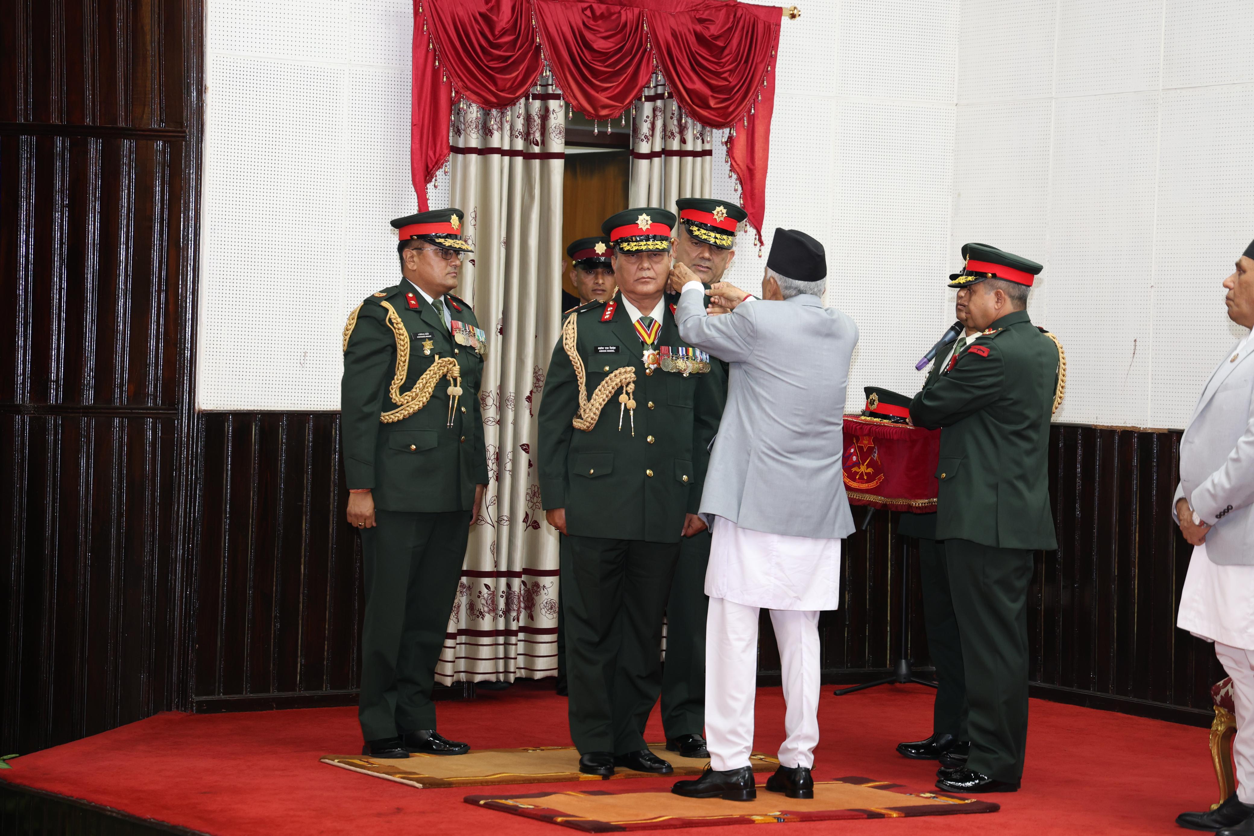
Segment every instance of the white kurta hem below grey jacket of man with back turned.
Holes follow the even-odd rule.
[[[706,594],[766,609],[836,609],[840,539],[767,534],[714,518]]]

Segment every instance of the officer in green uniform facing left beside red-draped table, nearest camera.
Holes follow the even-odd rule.
[[[1058,348],[1032,325],[1041,264],[966,244],[951,287],[982,333],[910,402],[910,420],[944,427],[935,539],[944,541],[966,668],[971,753],[942,770],[951,792],[1013,792],[1027,746],[1027,589],[1032,551],[1055,549],[1050,416]]]

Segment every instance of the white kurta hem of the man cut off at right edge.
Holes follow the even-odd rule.
[[[1219,565],[1194,548],[1176,627],[1208,642],[1254,651],[1254,567]]]

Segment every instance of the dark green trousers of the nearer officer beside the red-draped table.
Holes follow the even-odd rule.
[[[1032,553],[954,539],[944,541],[944,550],[967,672],[967,767],[998,781],[1020,781],[1027,747]]]

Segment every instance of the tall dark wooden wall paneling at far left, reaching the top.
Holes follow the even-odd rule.
[[[186,704],[197,0],[0,6],[0,747]]]

